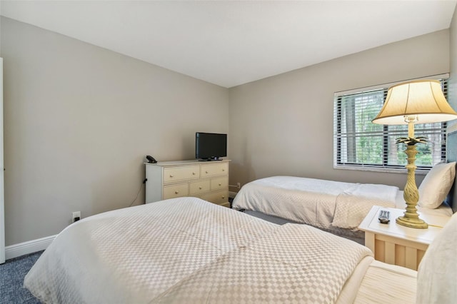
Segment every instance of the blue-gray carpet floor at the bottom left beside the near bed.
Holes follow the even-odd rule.
[[[43,251],[11,258],[0,265],[0,303],[1,304],[39,304],[29,290],[23,287],[24,277]]]

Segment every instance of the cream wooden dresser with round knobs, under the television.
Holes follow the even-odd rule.
[[[146,203],[194,196],[229,207],[229,160],[162,161],[146,165]]]

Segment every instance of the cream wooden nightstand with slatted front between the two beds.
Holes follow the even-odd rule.
[[[381,209],[390,211],[391,221],[388,224],[378,221]],[[395,222],[398,216],[403,216],[403,212],[403,209],[373,206],[358,228],[365,231],[365,245],[373,251],[376,260],[417,270],[428,245],[450,217],[429,216],[419,212],[419,216],[428,223],[428,228],[415,229]]]

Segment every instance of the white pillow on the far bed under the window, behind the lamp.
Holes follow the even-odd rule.
[[[419,186],[418,206],[422,208],[438,208],[451,190],[456,176],[456,162],[437,163]]]

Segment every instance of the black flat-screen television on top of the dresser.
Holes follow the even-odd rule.
[[[227,156],[227,134],[195,133],[195,158],[199,161],[219,161]]]

